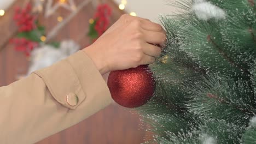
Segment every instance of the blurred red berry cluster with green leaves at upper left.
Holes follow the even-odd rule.
[[[43,43],[45,37],[45,27],[40,26],[37,22],[38,15],[32,13],[30,3],[24,9],[17,7],[15,9],[14,20],[19,28],[17,38],[11,39],[9,42],[15,45],[15,50],[24,52],[26,56],[30,56],[31,51],[38,47],[39,43]],[[58,43],[50,43],[54,47],[59,47]]]

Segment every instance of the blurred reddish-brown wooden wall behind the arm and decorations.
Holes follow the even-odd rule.
[[[75,0],[80,3],[83,0]],[[28,68],[27,58],[20,52],[16,52],[14,47],[4,44],[8,41],[16,31],[14,22],[11,20],[15,5],[24,4],[25,0],[16,1],[16,3],[7,11],[7,15],[0,17],[0,86],[8,85],[18,79],[20,75],[26,74]],[[112,22],[118,19],[123,13],[119,11],[112,1],[106,1],[114,8],[114,17]],[[88,20],[94,14],[92,4],[84,8],[74,19],[63,28],[55,40],[73,39],[82,47],[90,44],[89,38],[86,37],[88,29]],[[40,18],[40,22],[46,26],[49,32],[56,25],[56,17],[61,15],[65,17],[68,11],[59,9],[57,15],[51,16],[49,19]],[[4,46],[3,46],[4,45]],[[83,115],[83,113],[81,113]],[[129,110],[124,109],[116,104],[108,106],[106,109],[96,113],[83,122],[73,127],[61,131],[61,133],[50,136],[38,144],[46,143],[142,143],[146,132],[141,130],[141,123],[136,114],[132,114]],[[37,129],[37,128],[35,128]],[[1,143],[1,140],[0,140]]]

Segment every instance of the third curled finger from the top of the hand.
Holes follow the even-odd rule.
[[[146,43],[143,46],[143,52],[148,55],[148,56],[152,56],[152,57],[158,57],[161,55],[162,50],[160,47],[152,45],[152,44],[148,44]]]

